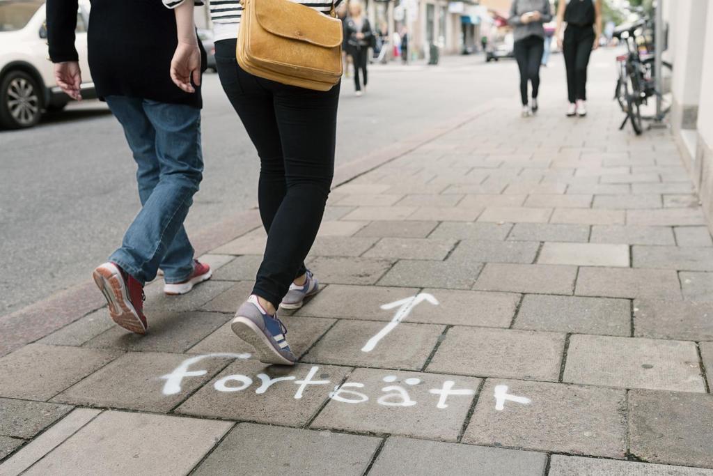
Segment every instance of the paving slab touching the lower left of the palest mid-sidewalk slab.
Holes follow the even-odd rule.
[[[488,263],[473,289],[513,293],[572,294],[576,266]]]

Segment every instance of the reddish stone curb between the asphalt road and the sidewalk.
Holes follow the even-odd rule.
[[[354,180],[364,173],[373,171],[386,163],[434,141],[478,116],[491,111],[493,101],[488,101],[468,113],[438,123],[428,130],[410,136],[384,148],[366,154],[354,161],[338,166],[334,170],[332,188]],[[192,233],[191,242],[195,255],[210,252],[235,238],[261,226],[260,213],[256,209],[238,213],[235,216]],[[96,292],[92,280],[53,293],[48,298],[26,306],[14,313],[0,316],[0,357],[13,350],[33,343],[54,331],[83,318],[88,313],[106,305],[101,293]]]

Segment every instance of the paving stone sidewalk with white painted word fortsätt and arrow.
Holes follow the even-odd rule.
[[[713,475],[713,240],[619,120],[495,104],[336,188],[294,368],[230,331],[260,229],[149,285],[144,337],[102,308],[5,355],[0,475]]]

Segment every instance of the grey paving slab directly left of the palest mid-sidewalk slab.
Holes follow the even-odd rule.
[[[533,263],[537,241],[462,240],[448,261],[452,263]]]

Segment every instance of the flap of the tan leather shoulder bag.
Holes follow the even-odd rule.
[[[342,21],[290,0],[250,0],[262,28],[324,48],[342,44]]]

